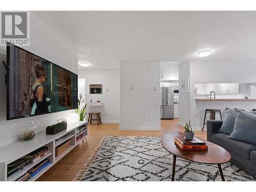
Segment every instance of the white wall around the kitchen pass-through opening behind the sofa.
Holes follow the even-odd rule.
[[[251,111],[256,108],[254,101],[195,101],[195,83],[255,83],[256,82],[256,62],[244,61],[202,61],[189,62],[190,68],[190,93],[189,103],[191,124],[194,129],[199,129],[203,125],[205,109],[220,109],[224,112],[225,108],[240,108]],[[185,71],[187,71],[185,69]],[[179,73],[182,73],[180,68]],[[181,95],[181,94],[180,94]],[[180,103],[187,102],[181,99]],[[180,109],[180,118],[183,118],[185,109]],[[223,113],[224,114],[224,113]],[[219,116],[217,115],[217,118]],[[181,119],[180,119],[181,121]],[[182,119],[182,121],[183,119]]]

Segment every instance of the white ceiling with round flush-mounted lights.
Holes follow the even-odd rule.
[[[34,13],[78,46],[78,61],[89,62],[88,69],[119,69],[119,61],[131,60],[256,60],[255,11]],[[212,54],[197,57],[205,49]]]

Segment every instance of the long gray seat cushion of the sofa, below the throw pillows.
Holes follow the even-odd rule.
[[[229,135],[224,133],[214,133],[211,135],[211,140],[227,150],[237,153],[246,159],[250,159],[250,153],[256,151],[256,145],[244,141],[228,139],[228,136]]]

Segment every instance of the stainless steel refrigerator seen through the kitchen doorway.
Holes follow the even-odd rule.
[[[161,119],[174,118],[174,88],[161,88]]]

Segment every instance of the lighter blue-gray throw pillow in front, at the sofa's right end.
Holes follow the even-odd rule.
[[[227,138],[256,144],[256,115],[241,110],[236,111],[234,129]]]

